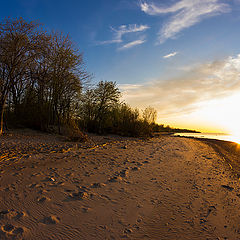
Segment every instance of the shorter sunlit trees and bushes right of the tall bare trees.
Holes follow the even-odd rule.
[[[89,132],[115,133],[124,136],[150,136],[157,112],[147,107],[142,113],[124,102],[114,82],[99,82],[82,93],[78,122]]]

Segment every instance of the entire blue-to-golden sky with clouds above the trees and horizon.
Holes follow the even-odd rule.
[[[240,0],[8,0],[5,17],[69,34],[93,82],[158,123],[240,136]]]

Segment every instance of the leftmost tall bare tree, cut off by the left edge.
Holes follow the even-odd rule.
[[[38,24],[22,18],[5,19],[0,23],[0,135],[3,133],[3,116],[7,97],[14,88],[22,85],[22,76],[33,60],[37,48]],[[16,89],[15,89],[16,90]],[[20,92],[15,91],[20,94]],[[17,95],[13,95],[17,101]]]

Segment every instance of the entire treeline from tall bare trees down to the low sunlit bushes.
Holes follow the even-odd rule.
[[[148,136],[156,111],[140,114],[120,102],[114,82],[89,88],[91,75],[68,36],[22,18],[0,23],[0,134],[23,126],[80,134],[82,130]],[[81,134],[80,134],[81,135]]]

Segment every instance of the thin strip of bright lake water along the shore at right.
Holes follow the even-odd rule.
[[[222,133],[175,133],[174,136],[185,136],[185,137],[195,137],[195,138],[210,138],[218,139],[224,141],[231,141],[240,144],[240,137],[233,135],[222,134]]]

